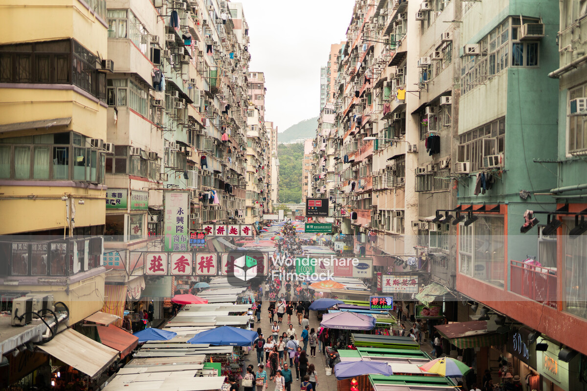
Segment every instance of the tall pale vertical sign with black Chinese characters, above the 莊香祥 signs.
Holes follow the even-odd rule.
[[[190,217],[190,193],[168,191],[165,192],[165,250],[187,251]]]

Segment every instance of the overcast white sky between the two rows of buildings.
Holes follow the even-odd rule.
[[[355,0],[234,0],[249,25],[249,71],[265,72],[265,121],[279,131],[320,110],[320,67],[345,40]]]

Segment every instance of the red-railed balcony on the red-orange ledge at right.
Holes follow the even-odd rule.
[[[556,308],[556,268],[510,260],[510,291]]]

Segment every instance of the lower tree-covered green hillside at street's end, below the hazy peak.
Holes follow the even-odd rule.
[[[279,202],[302,202],[303,144],[279,144]]]

